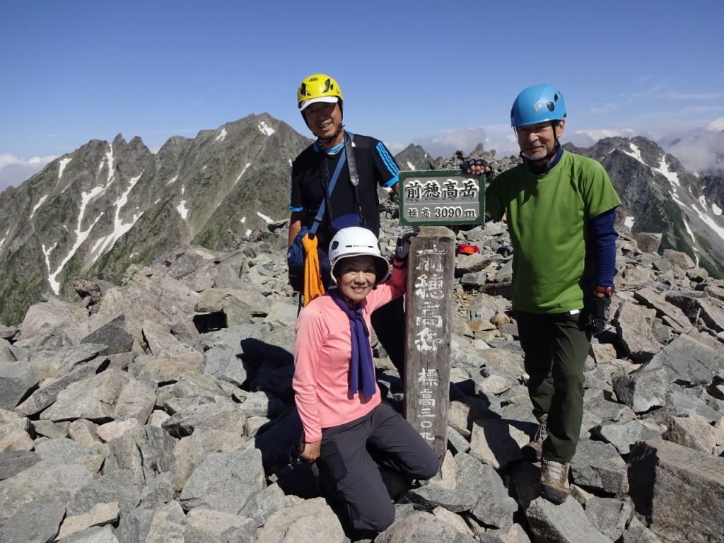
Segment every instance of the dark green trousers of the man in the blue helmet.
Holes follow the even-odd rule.
[[[515,311],[515,319],[525,353],[533,414],[539,418],[548,413],[543,456],[555,462],[570,462],[581,432],[584,363],[591,334],[578,323],[579,314]]]

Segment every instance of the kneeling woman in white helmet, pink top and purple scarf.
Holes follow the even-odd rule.
[[[337,288],[297,320],[292,386],[305,434],[300,456],[318,462],[358,536],[374,536],[395,519],[380,466],[408,480],[430,479],[439,467],[420,434],[381,402],[369,337],[370,313],[405,292],[412,234],[397,240],[390,273],[373,232],[337,232],[329,245]]]

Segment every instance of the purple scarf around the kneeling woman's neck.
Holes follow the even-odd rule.
[[[352,337],[352,358],[350,358],[350,395],[362,392],[370,398],[376,390],[372,348],[369,345],[369,330],[362,316],[362,309],[351,309],[347,305],[338,288],[329,290],[332,300],[340,306],[350,319],[350,336]]]

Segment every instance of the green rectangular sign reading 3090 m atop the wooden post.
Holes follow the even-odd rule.
[[[401,224],[481,224],[485,184],[460,170],[400,173]]]

